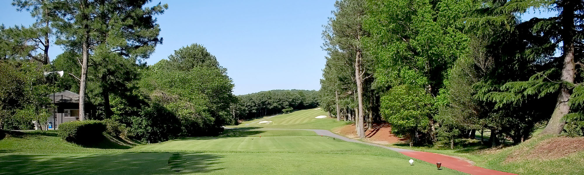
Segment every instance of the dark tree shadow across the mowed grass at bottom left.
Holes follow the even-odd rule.
[[[223,156],[206,153],[106,153],[0,156],[2,174],[209,173]]]

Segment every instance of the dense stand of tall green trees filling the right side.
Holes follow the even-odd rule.
[[[323,31],[322,108],[360,138],[387,121],[412,144],[583,135],[583,1],[343,0]],[[522,19],[526,12],[550,17]],[[556,14],[556,15],[554,15]]]

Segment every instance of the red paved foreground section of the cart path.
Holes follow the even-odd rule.
[[[473,166],[471,163],[468,163],[465,160],[457,159],[456,157],[450,157],[445,155],[440,155],[437,153],[431,152],[421,152],[421,151],[408,151],[408,152],[399,152],[406,156],[413,157],[415,159],[423,160],[425,162],[430,162],[436,164],[437,162],[442,163],[443,167],[447,167],[449,169],[462,171],[468,174],[477,174],[477,175],[491,175],[491,174],[513,174],[507,173],[503,171],[497,170],[490,170],[485,169],[478,166]]]

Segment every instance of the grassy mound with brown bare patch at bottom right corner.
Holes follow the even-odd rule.
[[[584,174],[584,138],[537,136],[516,146],[480,152],[479,166],[516,174]]]

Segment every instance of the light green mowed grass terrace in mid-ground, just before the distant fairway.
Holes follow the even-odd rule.
[[[195,137],[137,146],[133,150],[182,151],[182,152],[346,152],[363,151],[370,148],[361,143],[345,142],[327,136],[316,135],[303,130],[241,130],[227,129],[226,132],[259,132],[249,136],[236,137]],[[279,136],[283,135],[283,136]],[[392,153],[392,152],[390,152]],[[392,156],[398,156],[399,154]]]

